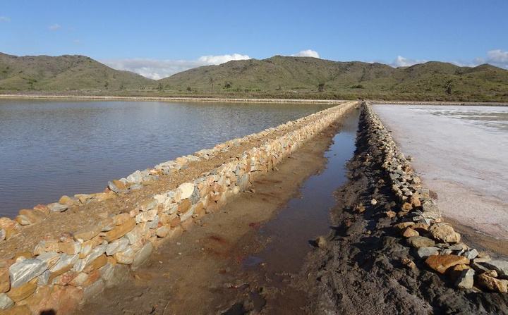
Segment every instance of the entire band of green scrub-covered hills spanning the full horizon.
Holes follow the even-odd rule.
[[[508,70],[430,61],[382,63],[274,56],[229,61],[150,80],[85,56],[0,54],[0,92],[131,96],[508,101]]]

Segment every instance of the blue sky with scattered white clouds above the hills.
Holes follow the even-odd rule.
[[[508,68],[507,0],[1,0],[0,52],[79,54],[147,78],[312,56]]]

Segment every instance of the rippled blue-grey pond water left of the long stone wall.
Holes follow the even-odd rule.
[[[0,99],[0,216],[327,107]]]

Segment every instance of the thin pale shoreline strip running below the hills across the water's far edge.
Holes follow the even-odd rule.
[[[0,94],[0,99],[91,99],[106,101],[202,101],[227,103],[287,103],[287,104],[341,104],[346,99],[249,99],[227,97],[118,97],[104,95],[34,95],[34,94]],[[508,106],[502,102],[472,101],[385,101],[367,100],[370,104],[393,105],[447,105],[447,106]]]

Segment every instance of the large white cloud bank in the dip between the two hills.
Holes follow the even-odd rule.
[[[222,56],[202,56],[198,60],[159,60],[150,58],[125,58],[125,59],[109,59],[101,60],[111,68],[116,70],[127,70],[133,73],[143,75],[143,77],[159,80],[167,78],[170,75],[179,73],[191,68],[200,66],[219,65],[231,60],[250,59],[247,55],[232,54]]]

